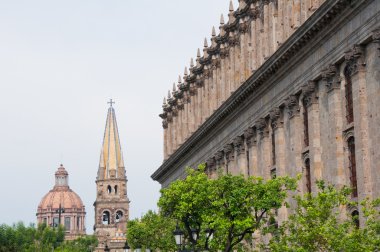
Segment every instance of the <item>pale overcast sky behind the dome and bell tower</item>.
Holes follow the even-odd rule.
[[[237,7],[237,0],[234,1]],[[60,163],[94,225],[95,179],[116,104],[130,218],[157,209],[163,97],[228,0],[0,0],[0,223],[36,222]],[[226,18],[227,20],[227,18]]]

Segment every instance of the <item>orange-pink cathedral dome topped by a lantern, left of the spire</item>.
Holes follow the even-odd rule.
[[[37,222],[51,227],[63,225],[66,239],[85,234],[85,207],[81,198],[68,184],[69,174],[61,165],[55,172],[55,185],[41,200],[37,209]]]

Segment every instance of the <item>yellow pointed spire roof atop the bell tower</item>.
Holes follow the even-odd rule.
[[[100,154],[99,171],[104,172],[100,179],[118,177],[118,168],[124,167],[115,109],[112,107],[112,103],[111,100]]]

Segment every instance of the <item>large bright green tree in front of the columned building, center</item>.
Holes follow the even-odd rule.
[[[264,181],[261,178],[220,174],[209,179],[204,166],[188,169],[184,180],[162,189],[159,207],[166,216],[178,220],[187,239],[196,249],[232,251],[250,238],[275,209],[284,204],[287,190],[295,189],[296,180],[288,177]],[[198,230],[198,239],[191,236]],[[211,229],[214,239],[205,235]]]

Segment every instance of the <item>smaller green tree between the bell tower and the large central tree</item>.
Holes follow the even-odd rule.
[[[174,251],[176,244],[173,237],[175,222],[173,219],[148,211],[141,219],[127,223],[127,240],[132,248]]]

